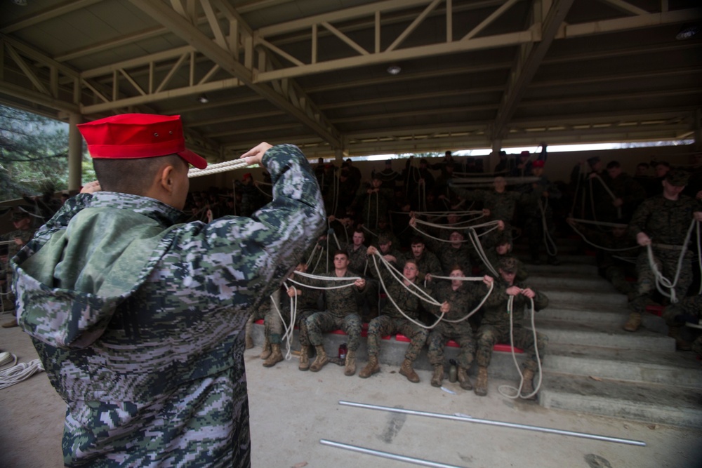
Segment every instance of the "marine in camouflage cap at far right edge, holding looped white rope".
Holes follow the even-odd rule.
[[[674,288],[677,299],[687,295],[692,283],[693,253],[689,248],[680,262],[685,238],[692,220],[702,221],[701,200],[681,193],[688,177],[684,171],[670,171],[663,180],[663,193],[641,203],[629,223],[629,232],[636,237],[637,243],[651,246],[658,271],[665,278],[673,281],[680,265]],[[633,312],[624,326],[627,331],[639,328],[647,300],[656,290],[656,277],[649,265],[648,248],[642,249],[639,254],[636,269],[636,297],[629,304]]]

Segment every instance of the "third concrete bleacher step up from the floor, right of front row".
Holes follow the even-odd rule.
[[[527,322],[525,321],[525,326]],[[572,323],[557,320],[536,320],[536,329],[548,335],[550,343],[621,349],[642,349],[650,352],[673,352],[675,340],[650,330],[630,333],[607,323]]]

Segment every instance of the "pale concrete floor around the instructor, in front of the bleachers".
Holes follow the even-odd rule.
[[[8,316],[0,317],[6,321]],[[37,354],[19,328],[0,328],[0,349],[20,362]],[[460,467],[687,468],[702,466],[702,432],[648,425],[609,417],[549,410],[512,401],[490,382],[488,396],[446,382],[455,395],[429,385],[430,373],[411,384],[397,368],[383,366],[362,380],[345,377],[328,364],[319,373],[301,373],[297,362],[263,368],[260,347],[246,352],[251,406],[253,467],[402,467],[406,462],[324,446],[319,439],[372,448]],[[476,418],[533,424],[640,440],[646,447],[569,436],[439,420],[340,406],[339,400],[397,406],[432,413],[463,413]],[[40,373],[0,390],[0,467],[62,466],[60,448],[65,405]],[[434,465],[440,466],[440,465]]]

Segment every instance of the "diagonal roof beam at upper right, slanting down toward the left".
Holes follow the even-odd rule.
[[[492,131],[493,138],[502,139],[500,135],[503,135],[506,123],[515,114],[519,102],[527,91],[527,86],[531,83],[531,79],[534,78],[541,61],[545,57],[546,52],[548,52],[548,48],[550,48],[552,41],[555,39],[560,25],[573,5],[573,1],[555,0],[551,4],[551,8],[549,8],[541,26],[541,41],[531,49],[522,67],[515,69],[512,73],[512,76],[515,78],[512,83],[508,84],[508,91],[505,93],[500,109],[498,109]]]

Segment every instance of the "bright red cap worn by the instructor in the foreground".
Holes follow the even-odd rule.
[[[178,154],[198,169],[207,161],[185,148],[179,115],[120,114],[81,123],[78,130],[95,159],[140,159]]]

